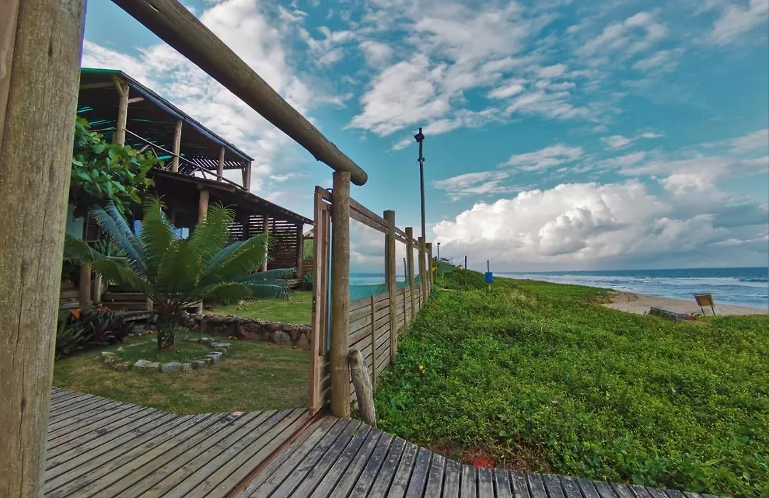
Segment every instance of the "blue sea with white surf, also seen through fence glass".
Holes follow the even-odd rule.
[[[681,268],[671,270],[551,271],[499,273],[498,277],[531,278],[556,284],[578,284],[636,294],[693,299],[710,293],[716,304],[769,307],[769,267]],[[404,284],[398,276],[399,287]],[[384,274],[350,274],[351,299],[384,292]]]

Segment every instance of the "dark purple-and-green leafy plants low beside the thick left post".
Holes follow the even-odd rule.
[[[131,325],[119,315],[102,310],[74,310],[59,317],[56,329],[56,358],[78,350],[122,342]]]

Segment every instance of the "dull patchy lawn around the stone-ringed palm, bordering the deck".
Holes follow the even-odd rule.
[[[155,338],[131,337],[125,344],[150,337]],[[178,347],[186,348],[188,337],[203,335],[177,334]],[[53,385],[183,414],[307,406],[310,372],[307,351],[261,342],[227,342],[231,347],[225,360],[183,373],[118,372],[102,364],[99,351],[90,351],[58,360],[54,365]],[[104,350],[117,348],[116,345]]]

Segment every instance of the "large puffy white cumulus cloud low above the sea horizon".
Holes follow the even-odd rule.
[[[498,268],[643,267],[687,255],[730,239],[717,222],[722,205],[697,206],[686,212],[674,198],[654,195],[644,184],[561,184],[548,190],[522,191],[493,204],[475,204],[453,220],[434,226],[441,254],[494,261]],[[754,207],[754,209],[756,209]],[[752,227],[755,237],[766,227]],[[754,258],[760,251],[753,254]]]

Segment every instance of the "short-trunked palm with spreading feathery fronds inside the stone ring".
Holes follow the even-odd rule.
[[[91,211],[102,232],[123,252],[107,256],[84,241],[67,237],[65,258],[89,264],[106,280],[144,293],[158,313],[158,347],[174,344],[181,311],[207,297],[288,297],[286,278],[294,269],[254,273],[267,258],[269,238],[262,234],[227,245],[235,213],[211,204],[191,237],[175,237],[158,198],[145,203],[141,229],[134,234],[114,205]]]

